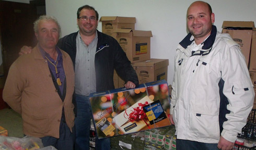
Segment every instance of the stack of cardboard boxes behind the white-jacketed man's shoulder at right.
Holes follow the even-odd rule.
[[[224,21],[222,32],[229,33],[241,48],[245,56],[250,77],[256,92],[256,29],[253,21]],[[256,108],[256,97],[254,97],[253,109]]]

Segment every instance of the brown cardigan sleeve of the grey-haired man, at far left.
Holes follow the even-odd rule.
[[[4,101],[15,111],[21,114],[21,94],[24,82],[16,66],[16,61],[11,65],[3,90]]]

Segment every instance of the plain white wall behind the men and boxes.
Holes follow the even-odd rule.
[[[95,7],[101,16],[136,17],[136,30],[151,30],[151,58],[169,59],[168,84],[172,84],[174,55],[177,44],[187,35],[186,13],[194,1],[188,0],[46,0],[46,14],[55,16],[62,27],[62,36],[78,30],[76,11],[80,6]],[[254,0],[206,0],[215,13],[215,26],[222,30],[224,20],[254,21]],[[98,30],[101,31],[101,22]]]

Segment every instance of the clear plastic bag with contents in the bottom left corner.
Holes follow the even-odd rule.
[[[29,136],[23,138],[0,136],[0,150],[34,150],[42,147],[43,144],[40,138]]]

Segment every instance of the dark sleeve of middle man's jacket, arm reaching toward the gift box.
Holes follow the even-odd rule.
[[[136,71],[131,65],[131,61],[127,58],[122,47],[115,40],[115,52],[114,52],[114,69],[117,71],[118,76],[125,81],[131,81],[136,86],[138,85],[138,77]]]

